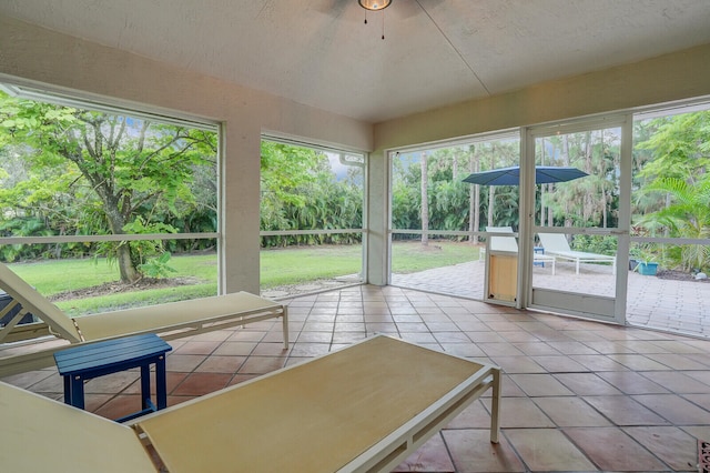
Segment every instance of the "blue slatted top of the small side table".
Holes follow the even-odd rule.
[[[57,369],[62,376],[128,362],[140,362],[171,351],[154,333],[88,343],[54,353]]]

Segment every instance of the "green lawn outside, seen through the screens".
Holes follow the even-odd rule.
[[[428,248],[410,241],[393,244],[393,271],[397,273],[423,271],[477,258],[478,249],[467,243],[432,241]],[[176,270],[174,278],[191,278],[195,283],[62,300],[57,305],[68,314],[81,315],[216,294],[215,254],[173,256],[168,264]],[[106,260],[58,260],[10,266],[45,296],[120,280],[118,266]],[[361,271],[362,245],[304,246],[261,252],[263,290],[359,274]]]

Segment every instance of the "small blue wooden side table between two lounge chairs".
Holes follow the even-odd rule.
[[[84,381],[132,368],[141,369],[142,410],[116,419],[125,422],[168,406],[165,353],[172,350],[154,333],[88,343],[54,353],[59,374],[64,378],[64,403],[84,409]],[[151,401],[150,365],[155,364],[158,407]]]

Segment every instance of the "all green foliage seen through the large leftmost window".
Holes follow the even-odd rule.
[[[0,94],[0,211],[12,222],[2,230],[13,235],[30,221],[42,222],[31,235],[216,229],[213,132]],[[109,255],[122,279],[133,281],[151,245],[155,253],[151,242],[68,243],[53,256]],[[0,254],[20,255],[38,256],[30,248]]]

